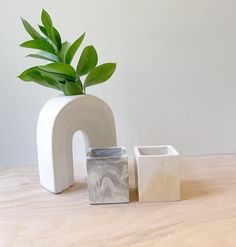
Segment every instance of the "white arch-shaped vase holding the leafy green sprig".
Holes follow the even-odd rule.
[[[74,184],[72,138],[78,130],[86,134],[87,148],[117,145],[113,113],[103,100],[60,95],[43,106],[37,126],[39,177],[53,193]]]

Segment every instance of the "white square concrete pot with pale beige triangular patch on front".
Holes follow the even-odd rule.
[[[170,145],[134,147],[140,202],[180,200],[179,154]]]

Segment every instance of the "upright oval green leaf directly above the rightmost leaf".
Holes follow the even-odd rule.
[[[93,68],[96,67],[97,62],[98,55],[95,48],[92,45],[85,47],[77,65],[77,77],[88,74]]]

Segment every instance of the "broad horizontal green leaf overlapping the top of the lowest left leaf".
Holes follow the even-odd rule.
[[[75,79],[75,70],[72,66],[65,63],[50,63],[48,65],[39,66],[39,69],[47,72],[65,75],[67,78]]]

